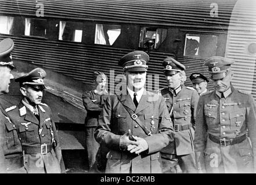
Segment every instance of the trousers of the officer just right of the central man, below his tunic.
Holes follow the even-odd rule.
[[[194,153],[177,156],[161,153],[163,173],[197,173]]]

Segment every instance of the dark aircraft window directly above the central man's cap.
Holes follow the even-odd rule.
[[[163,43],[167,36],[167,29],[165,28],[147,28],[143,27],[140,29],[139,35],[139,47],[146,48],[145,43],[147,41],[152,40],[154,42],[154,49],[158,49],[158,47]]]

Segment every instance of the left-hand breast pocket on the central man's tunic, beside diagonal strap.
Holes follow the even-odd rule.
[[[127,116],[128,115],[124,113],[114,114],[113,127],[116,127],[114,129],[118,129],[117,131],[120,132],[120,134],[124,134],[128,131]]]

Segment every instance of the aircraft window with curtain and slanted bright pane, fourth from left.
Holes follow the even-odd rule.
[[[120,34],[120,25],[96,24],[94,43],[112,46]]]

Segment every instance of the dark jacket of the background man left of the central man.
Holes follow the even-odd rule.
[[[99,95],[95,91],[86,91],[82,94],[82,102],[87,111],[85,127],[96,127],[98,125],[99,114],[106,98],[107,94]]]

